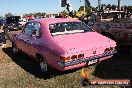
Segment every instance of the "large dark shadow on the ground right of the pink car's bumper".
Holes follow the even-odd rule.
[[[98,64],[94,76],[102,79],[132,80],[132,54],[128,49],[126,46],[120,47],[117,55]]]

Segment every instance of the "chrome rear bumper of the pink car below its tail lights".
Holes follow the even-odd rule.
[[[72,61],[69,61],[69,62],[59,61],[58,64],[60,66],[67,67],[67,66],[72,66],[72,65],[77,65],[77,64],[84,63],[84,62],[88,62],[88,61],[91,61],[91,60],[94,60],[94,59],[100,59],[100,58],[103,58],[103,57],[114,55],[116,53],[117,53],[117,51],[111,51],[111,52],[103,53],[103,54],[100,54],[100,55],[97,55],[97,56],[87,57],[87,58],[84,58],[84,59],[72,60]]]

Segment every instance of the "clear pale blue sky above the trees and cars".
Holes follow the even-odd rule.
[[[11,12],[14,15],[22,15],[32,12],[58,13],[65,8],[60,7],[60,0],[0,0],[0,16]],[[84,0],[69,0],[74,10],[83,5]],[[81,2],[80,2],[81,1]],[[93,7],[98,0],[89,0]],[[118,0],[101,0],[102,4],[115,4]],[[121,5],[132,5],[132,0],[121,0]]]

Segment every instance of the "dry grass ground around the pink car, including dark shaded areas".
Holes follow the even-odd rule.
[[[83,88],[80,86],[81,68],[60,72],[53,70],[49,76],[40,71],[38,65],[21,55],[14,56],[10,42],[1,51],[0,88]],[[105,60],[95,67],[91,79],[132,79],[132,55],[126,52]],[[90,71],[94,66],[85,67]],[[84,87],[85,88],[85,87]],[[86,88],[122,88],[118,86],[89,86]]]

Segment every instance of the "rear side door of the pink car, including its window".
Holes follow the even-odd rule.
[[[38,45],[41,42],[41,27],[40,23],[34,22],[31,36],[28,37],[28,53],[35,58],[38,52]]]

